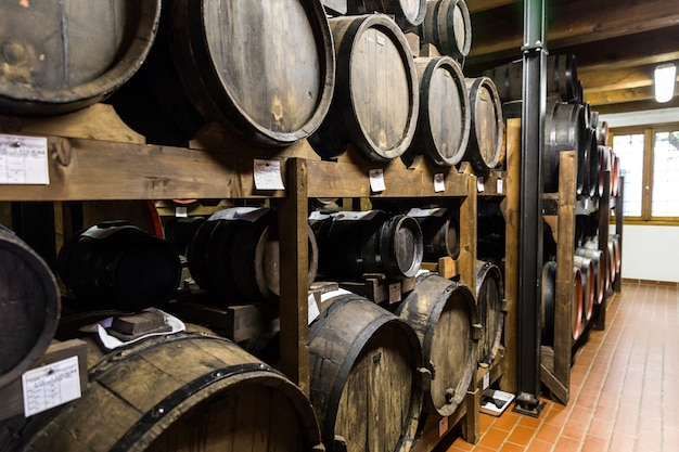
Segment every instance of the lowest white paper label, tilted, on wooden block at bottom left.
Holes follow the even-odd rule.
[[[22,375],[22,384],[26,417],[78,399],[78,357],[27,371]]]

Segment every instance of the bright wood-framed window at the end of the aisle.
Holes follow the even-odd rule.
[[[628,221],[679,223],[679,125],[616,129]]]

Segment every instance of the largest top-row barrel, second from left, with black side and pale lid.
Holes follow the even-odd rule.
[[[255,144],[282,146],[321,124],[334,68],[318,0],[166,0],[148,62],[113,103],[161,143],[188,141],[214,121]]]

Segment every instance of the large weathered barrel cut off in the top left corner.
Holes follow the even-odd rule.
[[[161,1],[5,2],[0,113],[53,115],[104,100],[141,66]]]

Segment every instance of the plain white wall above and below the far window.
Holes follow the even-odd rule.
[[[600,115],[610,128],[679,122],[679,108]],[[679,203],[679,193],[677,194]],[[615,229],[612,227],[611,231]],[[679,283],[679,227],[623,227],[623,277]]]

